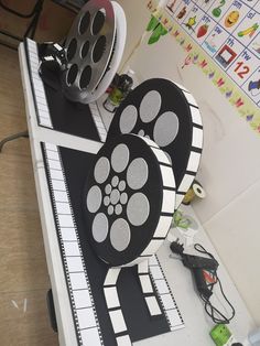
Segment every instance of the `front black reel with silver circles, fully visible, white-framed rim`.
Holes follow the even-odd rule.
[[[97,256],[111,267],[134,266],[155,253],[170,229],[172,165],[154,142],[120,136],[97,154],[83,203]]]

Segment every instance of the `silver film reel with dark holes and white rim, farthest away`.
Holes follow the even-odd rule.
[[[62,73],[62,84],[66,97],[88,104],[104,94],[118,68],[124,42],[121,7],[108,0],[87,2],[65,42],[67,69]]]

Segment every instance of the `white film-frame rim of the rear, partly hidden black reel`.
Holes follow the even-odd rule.
[[[191,110],[192,122],[193,122],[193,139],[192,139],[192,150],[189,153],[187,166],[185,174],[182,179],[181,184],[177,187],[176,192],[176,201],[175,201],[175,209],[178,208],[181,205],[186,192],[191,187],[201,162],[201,156],[203,152],[203,121],[202,116],[198,109],[198,105],[193,97],[193,95],[182,85],[174,82],[174,84],[182,90],[183,95],[185,96]]]

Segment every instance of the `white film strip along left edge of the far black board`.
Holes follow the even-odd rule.
[[[36,108],[37,122],[40,126],[53,129],[44,85],[43,85],[41,76],[39,75],[40,60],[39,60],[36,42],[30,39],[26,39],[25,52],[26,52],[26,57],[28,57],[28,66],[29,66],[32,93],[33,93],[35,108]]]

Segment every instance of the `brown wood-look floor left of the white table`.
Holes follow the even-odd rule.
[[[69,15],[58,13],[69,28]],[[2,10],[0,14],[2,26]],[[53,11],[51,14],[55,15]],[[53,22],[58,37],[58,21],[45,29],[52,30],[51,37],[55,36]],[[44,32],[37,36],[44,40]],[[0,139],[25,129],[18,52],[0,45]],[[58,345],[46,307],[50,286],[29,140],[19,139],[8,143],[0,154],[1,346]]]

